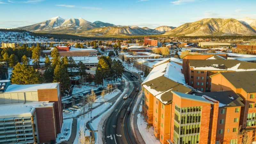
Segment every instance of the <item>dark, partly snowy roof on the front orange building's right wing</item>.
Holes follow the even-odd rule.
[[[236,107],[244,106],[242,98],[234,91],[219,91],[219,92],[201,92],[196,93],[197,96],[208,96],[220,102],[219,107]]]

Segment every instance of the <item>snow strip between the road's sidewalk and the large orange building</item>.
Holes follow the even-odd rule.
[[[141,114],[138,114],[137,116],[138,116],[138,120],[137,120],[138,129],[145,143],[161,144],[160,141],[157,140],[156,137],[154,136],[154,127],[151,127],[148,132],[148,130],[146,129],[148,123],[145,121],[144,116],[142,116]]]

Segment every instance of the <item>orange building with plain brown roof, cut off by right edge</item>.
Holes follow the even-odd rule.
[[[256,129],[256,71],[220,72],[212,77],[212,92],[233,91],[243,99],[240,125],[250,132],[255,140]]]

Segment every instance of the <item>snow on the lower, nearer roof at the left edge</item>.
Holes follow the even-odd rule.
[[[32,116],[35,108],[52,106],[53,102],[49,103],[49,101],[1,104],[0,118]]]

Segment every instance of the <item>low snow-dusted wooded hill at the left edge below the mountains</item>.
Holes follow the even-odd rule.
[[[0,42],[46,42],[49,38],[33,36],[30,32],[26,31],[12,31],[0,29]]]

